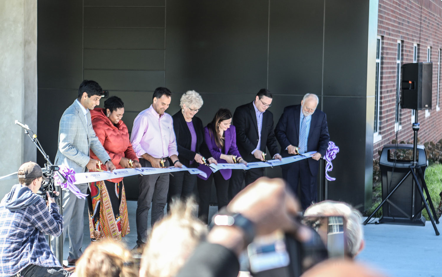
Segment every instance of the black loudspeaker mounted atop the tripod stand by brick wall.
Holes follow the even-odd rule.
[[[403,109],[431,110],[433,87],[433,63],[414,63],[402,65]]]

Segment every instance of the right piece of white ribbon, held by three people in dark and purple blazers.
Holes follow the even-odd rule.
[[[282,158],[281,160],[271,159],[271,160],[268,160],[267,162],[247,163],[247,165],[245,165],[244,163],[218,163],[218,164],[211,163],[210,169],[213,172],[217,172],[220,169],[248,170],[251,168],[258,168],[258,167],[275,167],[275,166],[283,165],[283,164],[287,164],[287,163],[294,163],[294,162],[300,161],[301,159],[311,158],[312,155],[315,153],[316,153],[316,151],[310,151],[310,152],[304,153],[303,155],[285,157],[285,158]]]

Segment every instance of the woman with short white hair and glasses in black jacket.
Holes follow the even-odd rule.
[[[203,101],[198,92],[187,91],[179,101],[181,110],[172,116],[178,159],[186,167],[198,167],[199,163],[204,163],[203,156],[199,154],[204,140],[204,129],[201,119],[195,116],[202,104]],[[206,152],[208,150],[204,153]],[[211,162],[213,162],[212,159]],[[196,175],[191,175],[188,171],[174,172],[169,179],[167,209],[170,209],[172,198],[177,197],[184,200],[191,196],[195,183]]]

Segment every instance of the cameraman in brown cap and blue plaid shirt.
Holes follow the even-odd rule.
[[[0,277],[70,276],[44,236],[61,235],[63,219],[49,192],[47,204],[36,194],[46,179],[42,169],[37,163],[23,163],[18,177],[19,184],[0,202]]]

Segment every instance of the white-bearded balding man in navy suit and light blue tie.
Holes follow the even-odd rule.
[[[325,155],[328,148],[327,117],[321,110],[316,109],[319,99],[314,94],[306,94],[301,105],[287,106],[279,118],[275,128],[275,136],[281,145],[283,157],[299,153],[316,151],[312,159],[303,159],[295,163],[281,166],[282,178],[289,183],[293,192],[297,193],[298,182],[301,183],[301,205],[307,209],[316,202],[316,175],[318,173],[319,159]],[[305,118],[306,129],[302,132],[302,121]],[[300,134],[304,133],[304,139]],[[304,145],[300,145],[300,140]]]

